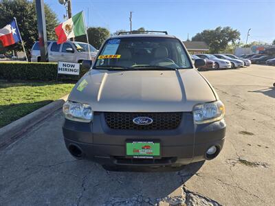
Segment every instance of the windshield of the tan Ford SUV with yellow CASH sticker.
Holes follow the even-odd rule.
[[[192,68],[184,47],[176,38],[112,38],[100,51],[95,69],[122,67],[128,69]]]

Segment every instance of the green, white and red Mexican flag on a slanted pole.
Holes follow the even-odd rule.
[[[83,12],[79,12],[72,18],[61,23],[54,30],[58,37],[58,44],[64,43],[69,38],[86,34]]]

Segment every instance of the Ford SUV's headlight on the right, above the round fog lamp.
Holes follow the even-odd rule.
[[[218,121],[223,118],[224,113],[225,107],[220,100],[217,102],[197,104],[193,108],[193,117],[196,124]]]

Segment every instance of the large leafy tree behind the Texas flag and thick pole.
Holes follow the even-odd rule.
[[[35,3],[28,0],[0,0],[0,28],[17,18],[17,24],[21,37],[25,43],[25,49],[30,51],[35,41],[38,41],[37,18]],[[58,25],[56,14],[45,4],[45,19],[47,39],[56,39],[54,27]],[[10,45],[7,49],[22,50],[21,43]]]

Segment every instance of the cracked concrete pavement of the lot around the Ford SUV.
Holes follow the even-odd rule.
[[[69,155],[58,111],[0,152],[0,205],[275,205],[275,67],[202,73],[227,109],[217,159],[180,172],[107,172]]]

